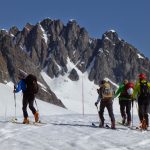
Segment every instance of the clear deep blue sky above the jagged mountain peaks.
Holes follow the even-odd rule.
[[[101,38],[114,29],[128,43],[150,58],[150,0],[1,0],[0,29],[49,17],[64,24],[75,19],[89,35]]]

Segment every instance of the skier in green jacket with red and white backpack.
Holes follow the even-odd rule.
[[[131,103],[133,104],[133,88],[134,84],[125,79],[119,86],[114,96],[115,98],[119,95],[122,124],[127,126],[131,125]]]

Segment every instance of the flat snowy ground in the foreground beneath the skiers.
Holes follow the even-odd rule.
[[[119,117],[119,116],[118,116]],[[107,116],[106,116],[107,118]],[[150,132],[92,127],[97,115],[43,116],[42,126],[0,122],[1,150],[145,150],[150,149]],[[109,118],[106,120],[108,123]],[[95,122],[98,125],[98,121]]]

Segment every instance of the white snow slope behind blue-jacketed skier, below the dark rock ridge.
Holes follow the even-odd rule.
[[[15,99],[13,93],[13,83],[2,84],[0,83],[0,116],[5,117],[14,117],[15,116]],[[51,105],[44,101],[36,99],[40,115],[55,115],[55,114],[68,114],[73,113],[69,112],[66,109],[60,108],[55,105]],[[36,108],[36,105],[35,105]],[[53,110],[53,111],[52,111]],[[29,115],[32,116],[31,111]],[[22,92],[16,94],[16,115],[22,116]]]

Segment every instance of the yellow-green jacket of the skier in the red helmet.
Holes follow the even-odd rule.
[[[142,80],[141,83],[147,82],[146,80]],[[147,82],[148,88],[150,90],[150,83]],[[140,95],[140,80],[138,80],[134,87],[133,98],[136,99]]]

